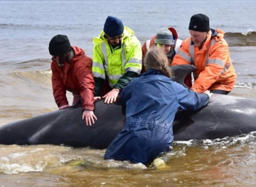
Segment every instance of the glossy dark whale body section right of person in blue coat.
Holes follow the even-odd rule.
[[[198,112],[177,112],[174,140],[218,139],[256,131],[256,100],[213,94]]]

